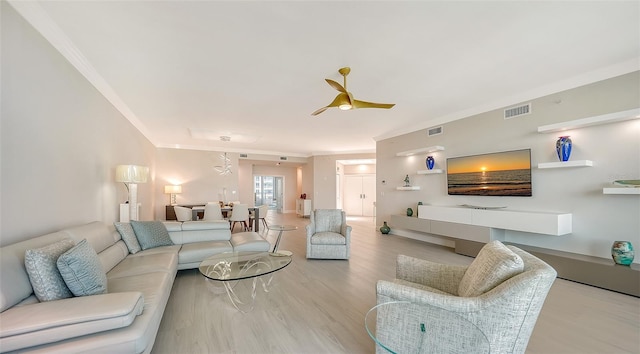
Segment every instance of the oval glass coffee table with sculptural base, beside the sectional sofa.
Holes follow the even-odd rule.
[[[269,292],[269,285],[273,280],[273,273],[291,263],[290,255],[270,252],[226,252],[213,255],[200,263],[200,273],[207,279],[220,281],[231,300],[233,306],[240,312],[253,310],[256,298],[258,280],[265,292]],[[263,276],[269,276],[267,281]],[[251,298],[241,300],[234,291],[239,281],[252,279]]]

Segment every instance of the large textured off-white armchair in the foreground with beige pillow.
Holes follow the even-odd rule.
[[[375,336],[397,353],[524,353],[555,278],[542,260],[499,241],[468,267],[399,255],[396,279],[377,283]]]

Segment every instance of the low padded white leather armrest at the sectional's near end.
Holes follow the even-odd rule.
[[[121,292],[12,307],[0,313],[2,351],[126,327],[143,306],[140,292]]]

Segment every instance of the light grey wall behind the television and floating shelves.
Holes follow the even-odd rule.
[[[449,196],[446,175],[416,175],[424,170],[427,154],[397,157],[399,151],[442,145],[434,153],[436,168],[446,169],[446,158],[531,148],[532,165],[558,158],[558,133],[539,134],[537,127],[562,121],[637,108],[639,72],[623,75],[554,95],[532,99],[530,115],[503,119],[496,110],[445,124],[444,133],[427,137],[425,130],[377,143],[377,217],[404,214],[418,201],[432,205],[476,204],[522,210],[573,214],[573,233],[546,236],[507,232],[507,241],[610,258],[614,240],[630,240],[640,247],[640,196],[603,195],[602,188],[616,179],[640,178],[640,120],[563,132],[573,140],[571,160],[592,160],[593,167],[532,171],[532,197]],[[409,174],[421,191],[396,191]],[[386,180],[385,185],[382,180]],[[393,229],[393,225],[390,225]],[[640,257],[638,257],[640,258]],[[638,262],[638,259],[636,259]]]

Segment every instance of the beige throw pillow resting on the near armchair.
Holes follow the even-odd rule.
[[[464,273],[458,295],[479,296],[500,285],[514,275],[522,273],[522,258],[500,241],[492,241],[482,247],[476,259]]]

